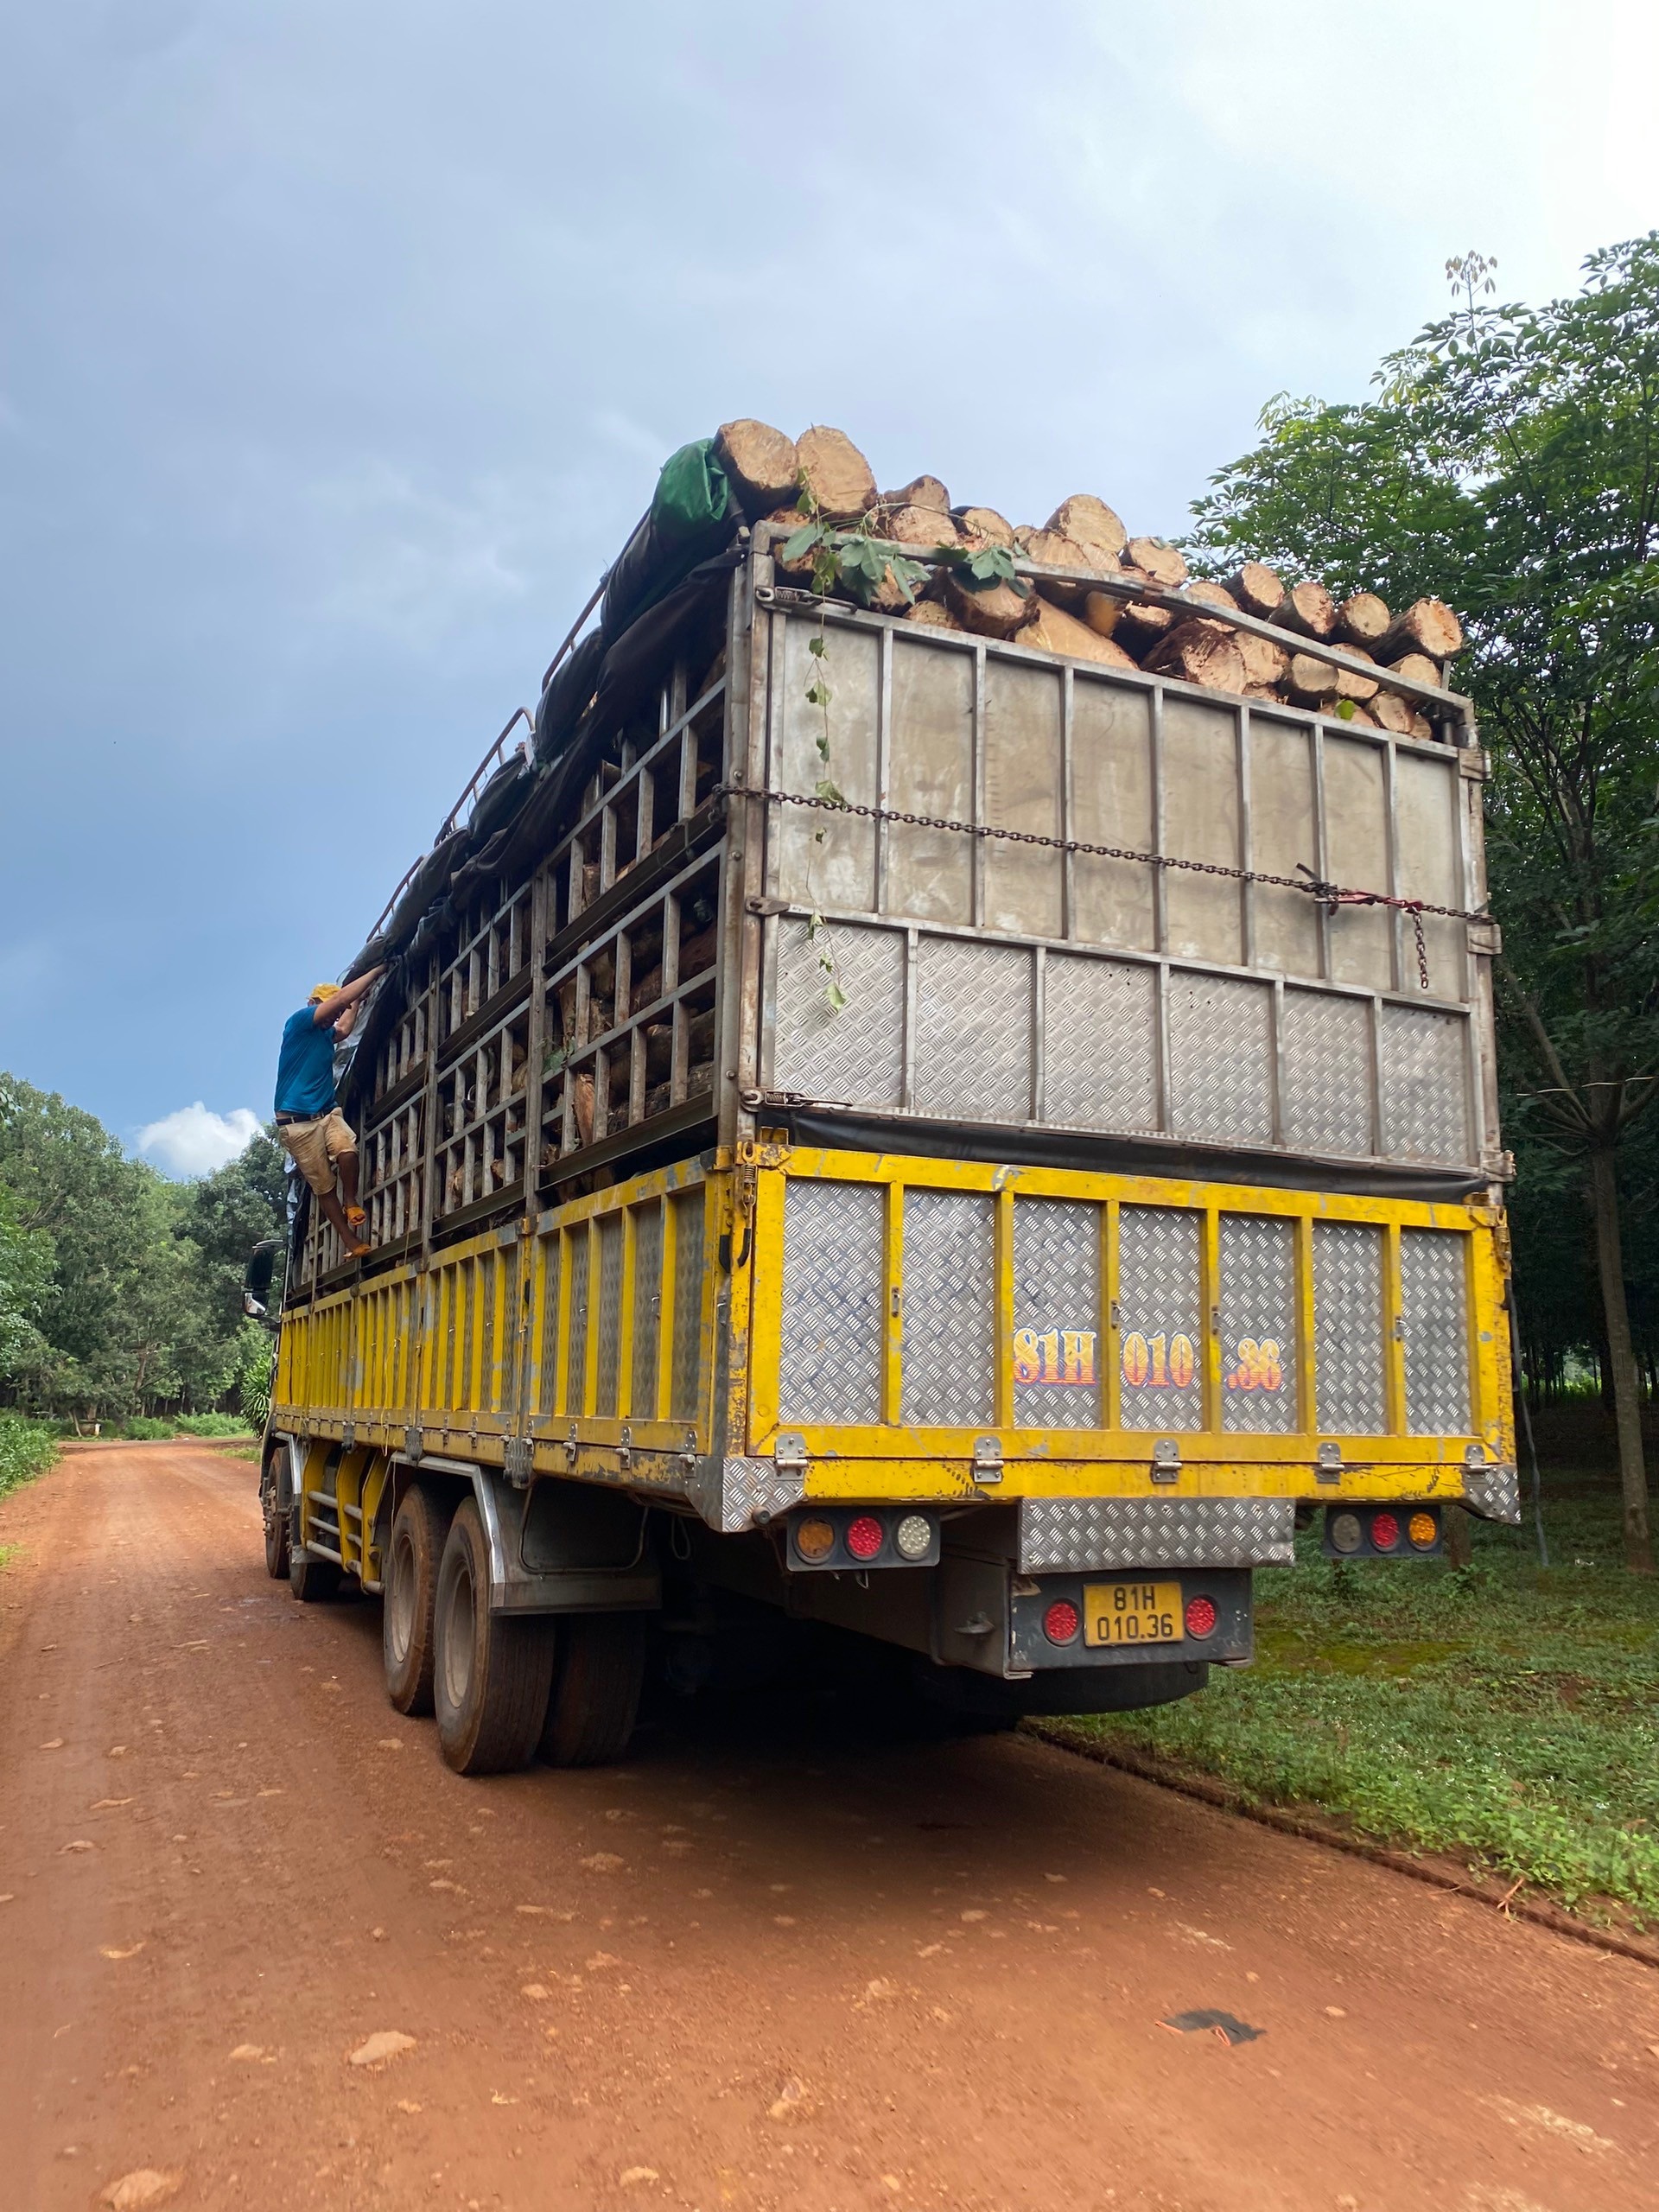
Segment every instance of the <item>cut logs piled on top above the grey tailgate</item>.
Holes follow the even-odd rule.
[[[1071,493],[1042,526],[1015,526],[993,507],[953,504],[936,476],[914,476],[878,493],[869,462],[838,429],[814,425],[787,438],[752,418],[721,425],[717,458],[752,520],[794,531],[814,515],[834,529],[860,529],[931,566],[929,584],[914,599],[891,568],[865,593],[878,613],[922,628],[1011,639],[1108,668],[1144,668],[1400,737],[1431,737],[1433,728],[1416,697],[1394,690],[1389,679],[1444,688],[1444,664],[1462,650],[1462,626],[1440,599],[1416,599],[1402,615],[1374,591],[1354,591],[1338,604],[1318,577],[1285,582],[1265,562],[1243,562],[1225,582],[1188,580],[1179,546],[1130,535],[1091,491]],[[1035,573],[1020,586],[964,571],[962,553],[993,546]],[[949,564],[938,560],[945,553],[953,555]],[[812,553],[785,562],[774,540],[772,555],[781,577],[812,584]],[[1175,599],[1190,602],[1192,613],[1170,604]],[[1232,615],[1272,624],[1283,641],[1234,626]],[[1363,666],[1338,668],[1321,646]]]

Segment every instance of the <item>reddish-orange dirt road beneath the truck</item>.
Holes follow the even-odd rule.
[[[1628,1960],[1022,1739],[458,1781],[243,1460],[69,1458],[0,1546],[4,2212],[1659,2201]]]

